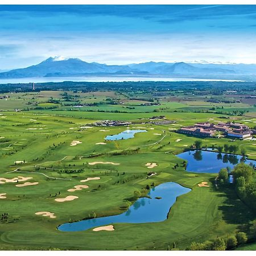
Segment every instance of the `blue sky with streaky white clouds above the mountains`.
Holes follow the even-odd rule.
[[[256,5],[0,5],[0,69],[87,62],[256,63]]]

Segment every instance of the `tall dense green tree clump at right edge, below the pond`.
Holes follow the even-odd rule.
[[[253,167],[240,163],[232,171],[238,197],[249,207],[256,210],[256,182],[253,179]]]

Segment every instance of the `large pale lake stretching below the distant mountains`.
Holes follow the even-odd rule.
[[[240,80],[225,80],[225,79],[195,79],[187,77],[129,77],[129,76],[85,76],[85,77],[26,77],[20,79],[0,79],[0,84],[19,84],[28,82],[139,82],[139,81],[240,81]]]

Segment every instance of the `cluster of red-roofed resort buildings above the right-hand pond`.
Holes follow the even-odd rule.
[[[220,132],[220,133],[218,133]],[[242,123],[196,123],[193,126],[181,127],[177,133],[192,135],[197,137],[229,137],[238,139],[248,139],[256,134],[256,130],[250,129]]]

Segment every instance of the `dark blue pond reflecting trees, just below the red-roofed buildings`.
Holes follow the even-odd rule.
[[[213,151],[186,151],[179,155],[179,158],[187,160],[186,170],[189,172],[207,172],[217,173],[221,168],[229,167],[231,169],[240,162],[246,164],[255,164],[255,160],[248,160],[241,155],[218,153]]]

